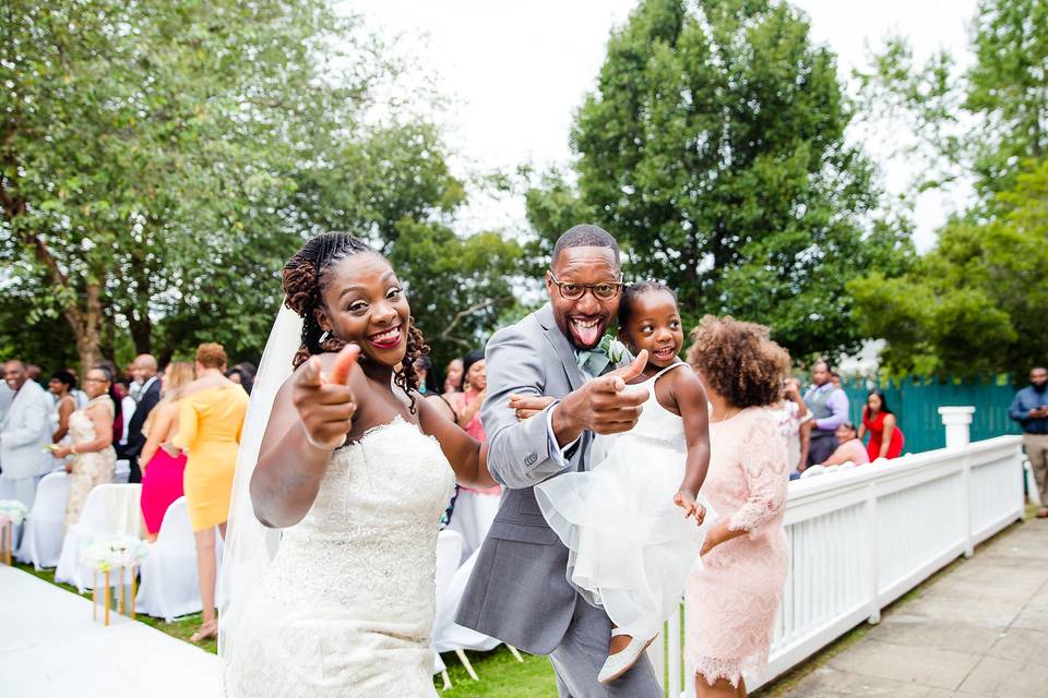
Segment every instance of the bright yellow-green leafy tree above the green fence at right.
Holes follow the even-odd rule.
[[[1048,356],[1048,159],[1015,176],[988,222],[957,218],[900,278],[849,284],[860,326],[896,373],[1026,375]]]

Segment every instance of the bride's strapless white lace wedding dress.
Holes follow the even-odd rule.
[[[332,455],[245,607],[226,695],[436,696],[437,533],[454,473],[401,419]]]

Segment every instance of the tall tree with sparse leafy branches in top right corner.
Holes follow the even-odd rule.
[[[1023,163],[1048,153],[1048,0],[980,0],[972,50],[966,71],[944,51],[918,64],[908,40],[892,37],[857,76],[865,111],[914,132],[900,155],[924,160],[915,189],[972,177],[970,213],[987,217]]]

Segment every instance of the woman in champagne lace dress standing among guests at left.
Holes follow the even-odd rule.
[[[64,528],[80,520],[87,495],[97,485],[112,482],[117,452],[112,448],[112,420],[116,404],[112,400],[112,371],[98,365],[84,376],[87,407],[69,418],[71,443],[56,445],[51,455],[66,461],[70,473],[69,501],[66,504]]]

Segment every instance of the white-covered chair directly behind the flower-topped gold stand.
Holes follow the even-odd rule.
[[[83,550],[102,538],[132,535],[142,531],[142,485],[100,484],[87,495],[80,520],[66,531],[55,581],[73,585],[83,593],[93,587],[92,573],[81,562]]]

